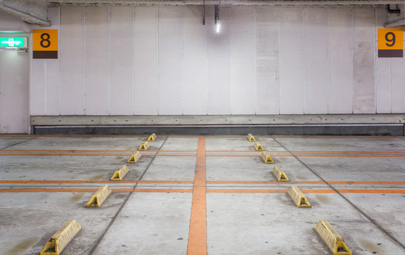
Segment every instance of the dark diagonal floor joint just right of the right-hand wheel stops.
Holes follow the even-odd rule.
[[[333,191],[335,191],[335,193],[338,193],[338,195],[340,197],[342,197],[347,203],[349,203],[350,205],[352,205],[353,208],[355,208],[355,210],[357,210],[358,212],[360,212],[361,215],[363,215],[364,217],[366,217],[370,222],[372,222],[372,224],[374,224],[379,230],[381,230],[382,232],[384,232],[384,234],[386,234],[390,239],[392,239],[392,241],[394,241],[396,244],[398,244],[399,246],[401,246],[402,249],[405,250],[405,245],[402,244],[401,242],[399,242],[398,239],[396,239],[392,233],[390,233],[387,229],[384,229],[384,227],[380,226],[372,217],[369,217],[369,215],[367,215],[367,213],[365,213],[363,210],[361,210],[360,208],[358,208],[354,203],[352,203],[348,198],[346,198],[345,196],[342,195],[342,193],[340,193],[335,187],[333,187],[330,183],[328,183],[327,181],[325,181],[320,174],[318,174],[318,172],[316,172],[315,170],[311,169],[311,167],[309,167],[307,164],[305,164],[303,161],[301,161],[301,159],[299,159],[296,154],[293,154],[292,152],[290,152],[289,149],[287,149],[283,144],[281,144],[281,142],[279,142],[278,140],[276,140],[276,138],[274,138],[272,136],[272,138],[284,149],[286,149],[287,152],[289,152],[291,155],[293,155],[293,157],[295,157],[298,162],[300,162],[301,164],[303,164],[303,166],[305,166],[309,171],[311,171],[313,174],[315,174],[315,176],[318,176],[318,178],[323,181],[324,183],[326,183],[330,188],[333,189]]]

